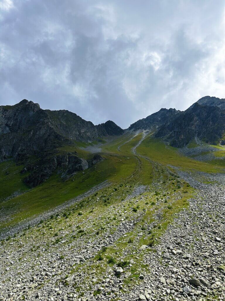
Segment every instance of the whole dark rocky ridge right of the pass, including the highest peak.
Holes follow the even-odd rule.
[[[184,147],[195,137],[208,144],[223,141],[225,99],[205,96],[187,110],[161,109],[133,123],[128,130],[155,130],[155,138]],[[222,142],[223,143],[223,142]]]

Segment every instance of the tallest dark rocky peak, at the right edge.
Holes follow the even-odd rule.
[[[195,137],[208,144],[217,144],[225,132],[223,102],[223,99],[215,97],[201,98],[161,126],[155,137],[174,147],[183,147]]]

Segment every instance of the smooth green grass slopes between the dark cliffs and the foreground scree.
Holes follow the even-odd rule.
[[[142,134],[135,137],[131,134],[125,134],[109,143],[104,143],[101,155],[105,160],[101,163],[84,172],[78,172],[66,182],[62,182],[59,175],[52,175],[42,185],[5,201],[1,205],[0,211],[0,213],[4,213],[5,220],[1,222],[0,229],[60,205],[64,201],[84,193],[106,179],[117,184],[125,179],[129,179],[132,185],[150,185],[155,177],[152,163],[142,157],[135,156],[131,151],[132,147],[137,145],[141,137]],[[122,143],[125,144],[118,150],[118,146]],[[86,159],[93,157],[93,154],[73,146],[61,147],[58,151],[60,153],[78,151],[79,155]],[[217,160],[219,161],[218,163],[199,162],[180,155],[175,148],[166,146],[151,137],[143,140],[141,145],[137,147],[137,152],[155,162],[163,165],[178,166],[184,170],[194,169],[204,172],[223,171],[219,166],[219,163],[223,160]],[[0,195],[2,198],[10,196],[15,191],[24,192],[28,189],[22,182],[22,178],[25,175],[19,173],[21,169],[22,166],[16,166],[12,161],[0,164]],[[9,174],[5,175],[7,171],[9,171]],[[160,173],[160,171],[158,172]],[[163,170],[161,171],[161,177],[164,178],[164,181],[168,180]],[[9,217],[10,220],[8,219]],[[1,217],[1,219],[3,218]]]

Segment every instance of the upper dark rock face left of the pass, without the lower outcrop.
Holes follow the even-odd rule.
[[[7,157],[24,160],[74,141],[89,142],[122,133],[112,121],[95,126],[75,113],[42,110],[24,99],[14,106],[0,106],[0,162]]]

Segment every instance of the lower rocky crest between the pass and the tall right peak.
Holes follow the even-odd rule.
[[[129,126],[128,130],[151,130],[155,129],[159,126],[162,126],[164,123],[167,123],[170,119],[175,117],[177,114],[179,114],[180,111],[176,109],[164,109],[162,108],[156,113],[153,113],[152,115],[147,116],[146,118],[140,119],[136,121],[135,123],[131,124]]]

